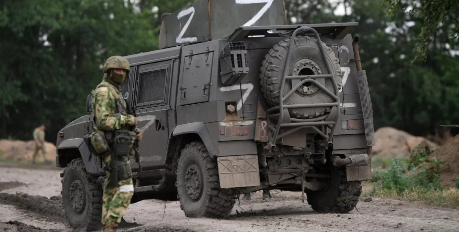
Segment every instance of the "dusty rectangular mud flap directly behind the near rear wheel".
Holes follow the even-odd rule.
[[[217,162],[221,188],[260,185],[257,155],[219,157]]]

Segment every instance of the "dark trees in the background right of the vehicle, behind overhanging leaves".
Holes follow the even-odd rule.
[[[442,123],[458,118],[459,87],[454,76],[458,57],[446,49],[446,30],[437,33],[443,46],[428,51],[426,62],[416,57],[417,36],[424,19],[404,12],[387,16],[381,0],[354,0],[359,26],[362,66],[367,69],[376,127],[393,126],[417,135],[433,134]],[[443,25],[449,27],[451,25]]]

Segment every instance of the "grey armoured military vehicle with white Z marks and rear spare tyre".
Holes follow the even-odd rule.
[[[132,202],[179,200],[186,217],[223,217],[239,194],[277,189],[318,212],[354,209],[374,145],[349,34],[358,23],[285,21],[283,0],[199,0],[163,16],[159,50],[125,56],[122,92],[144,133]],[[90,114],[59,131],[56,156],[70,224],[88,231],[105,175],[82,139],[90,99]]]

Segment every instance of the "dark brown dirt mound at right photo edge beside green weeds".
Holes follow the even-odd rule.
[[[455,179],[459,176],[459,135],[448,141],[430,157],[438,157],[445,161],[440,169],[440,183],[443,186],[454,187]]]

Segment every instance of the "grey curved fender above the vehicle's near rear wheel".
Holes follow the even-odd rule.
[[[217,149],[215,149],[214,142],[212,141],[211,134],[209,133],[206,125],[204,125],[202,122],[192,122],[178,125],[172,132],[171,138],[177,135],[190,133],[198,134],[199,137],[201,137],[201,140],[203,141],[204,145],[206,145],[207,151],[211,157],[218,155]]]

